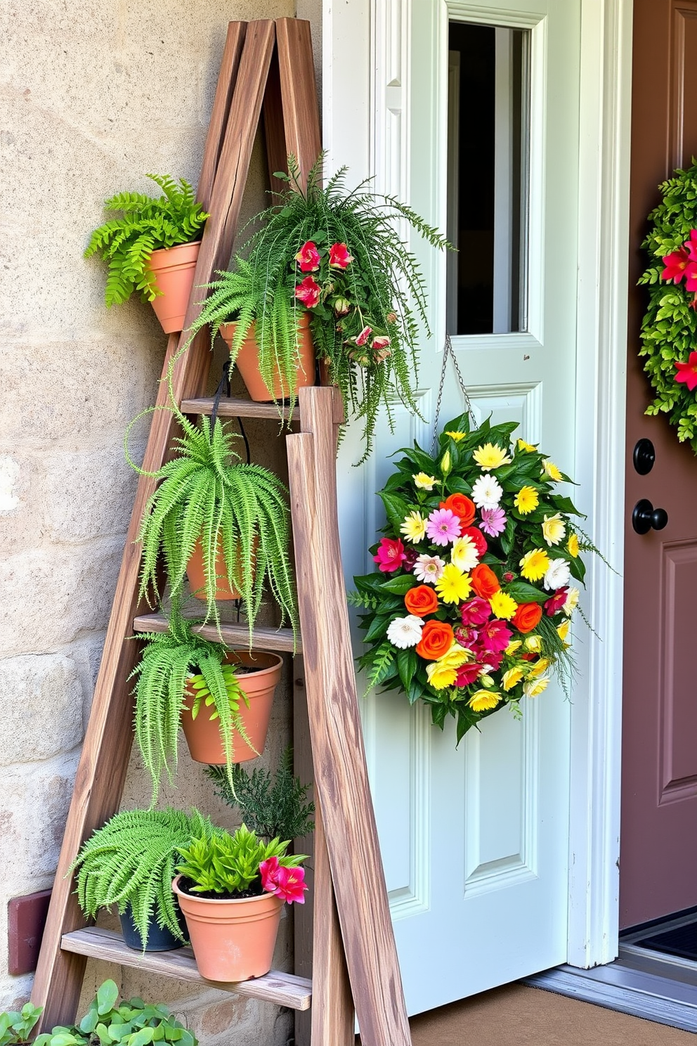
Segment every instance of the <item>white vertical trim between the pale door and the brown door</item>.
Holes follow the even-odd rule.
[[[582,0],[576,479],[591,537],[621,571],[631,103],[631,0]],[[597,55],[602,55],[598,62]],[[572,708],[568,962],[618,954],[622,577],[594,558]]]

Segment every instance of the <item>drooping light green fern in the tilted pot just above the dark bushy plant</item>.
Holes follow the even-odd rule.
[[[177,604],[172,606],[167,632],[144,633],[139,638],[146,645],[130,678],[135,676],[137,680],[134,727],[143,764],[153,781],[152,805],[157,802],[163,771],[170,782],[173,780],[184,690],[192,676],[200,690],[196,711],[203,700],[220,721],[226,773],[232,784],[233,729],[250,742],[239,713],[239,684],[232,666],[223,665],[226,649],[192,632],[191,622],[181,617]]]

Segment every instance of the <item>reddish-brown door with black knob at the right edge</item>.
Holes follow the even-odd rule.
[[[634,0],[631,149],[621,927],[697,905],[697,458],[644,414],[636,287],[657,185],[697,156],[697,0]],[[644,438],[655,464],[640,475]],[[666,509],[665,529],[634,531],[642,498]]]

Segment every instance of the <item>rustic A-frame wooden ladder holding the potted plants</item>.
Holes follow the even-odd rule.
[[[198,199],[210,212],[199,254],[194,288],[227,266],[237,231],[252,145],[263,109],[272,188],[293,153],[306,178],[321,150],[308,23],[295,19],[231,22],[204,150]],[[193,291],[185,329],[198,316]],[[163,377],[184,336],[170,335]],[[210,414],[213,401],[203,397],[210,349],[205,331],[177,360],[175,397],[185,413]],[[158,406],[167,403],[161,382]],[[133,741],[131,672],[136,632],[163,631],[166,618],[143,613],[138,604],[140,549],[136,544],[143,510],[154,490],[139,479],[123,560],[96,682],[83,754],[77,768],[48,920],[34,980],[32,1002],[44,1007],[42,1029],[70,1024],[75,1018],[88,957],[194,981],[254,997],[298,1011],[308,1021],[297,1025],[297,1044],[350,1046],[353,1013],[364,1046],[411,1043],[392,925],[379,856],[375,818],[361,733],[355,677],[344,597],[336,517],[335,448],[343,419],[339,392],[302,389],[301,431],[286,437],[296,574],[305,686],[296,679],[296,746],[302,747],[309,723],[309,754],[317,800],[313,841],[313,919],[311,960],[300,951],[300,964],[311,961],[306,977],[272,971],[235,984],[204,981],[190,949],[145,953],[127,949],[118,934],[86,927],[70,866],[82,842],[119,809]],[[222,400],[219,416],[278,418],[276,407],[246,400]],[[167,410],[153,414],[143,461],[147,472],[167,460],[175,434]],[[217,639],[215,628],[201,633]],[[225,624],[228,644],[245,644],[247,627]],[[289,630],[257,628],[255,645],[293,652]],[[302,675],[296,672],[296,677]],[[306,703],[305,703],[306,698]],[[299,912],[302,909],[298,910]],[[306,927],[302,918],[301,929]],[[300,936],[302,937],[301,932]],[[298,934],[297,934],[298,937]],[[309,951],[309,950],[306,950]],[[309,972],[303,970],[303,973]]]

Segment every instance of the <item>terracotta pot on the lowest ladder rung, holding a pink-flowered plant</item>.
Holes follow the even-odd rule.
[[[236,901],[196,897],[171,888],[186,918],[199,973],[207,980],[240,981],[271,970],[284,902],[273,893]]]

